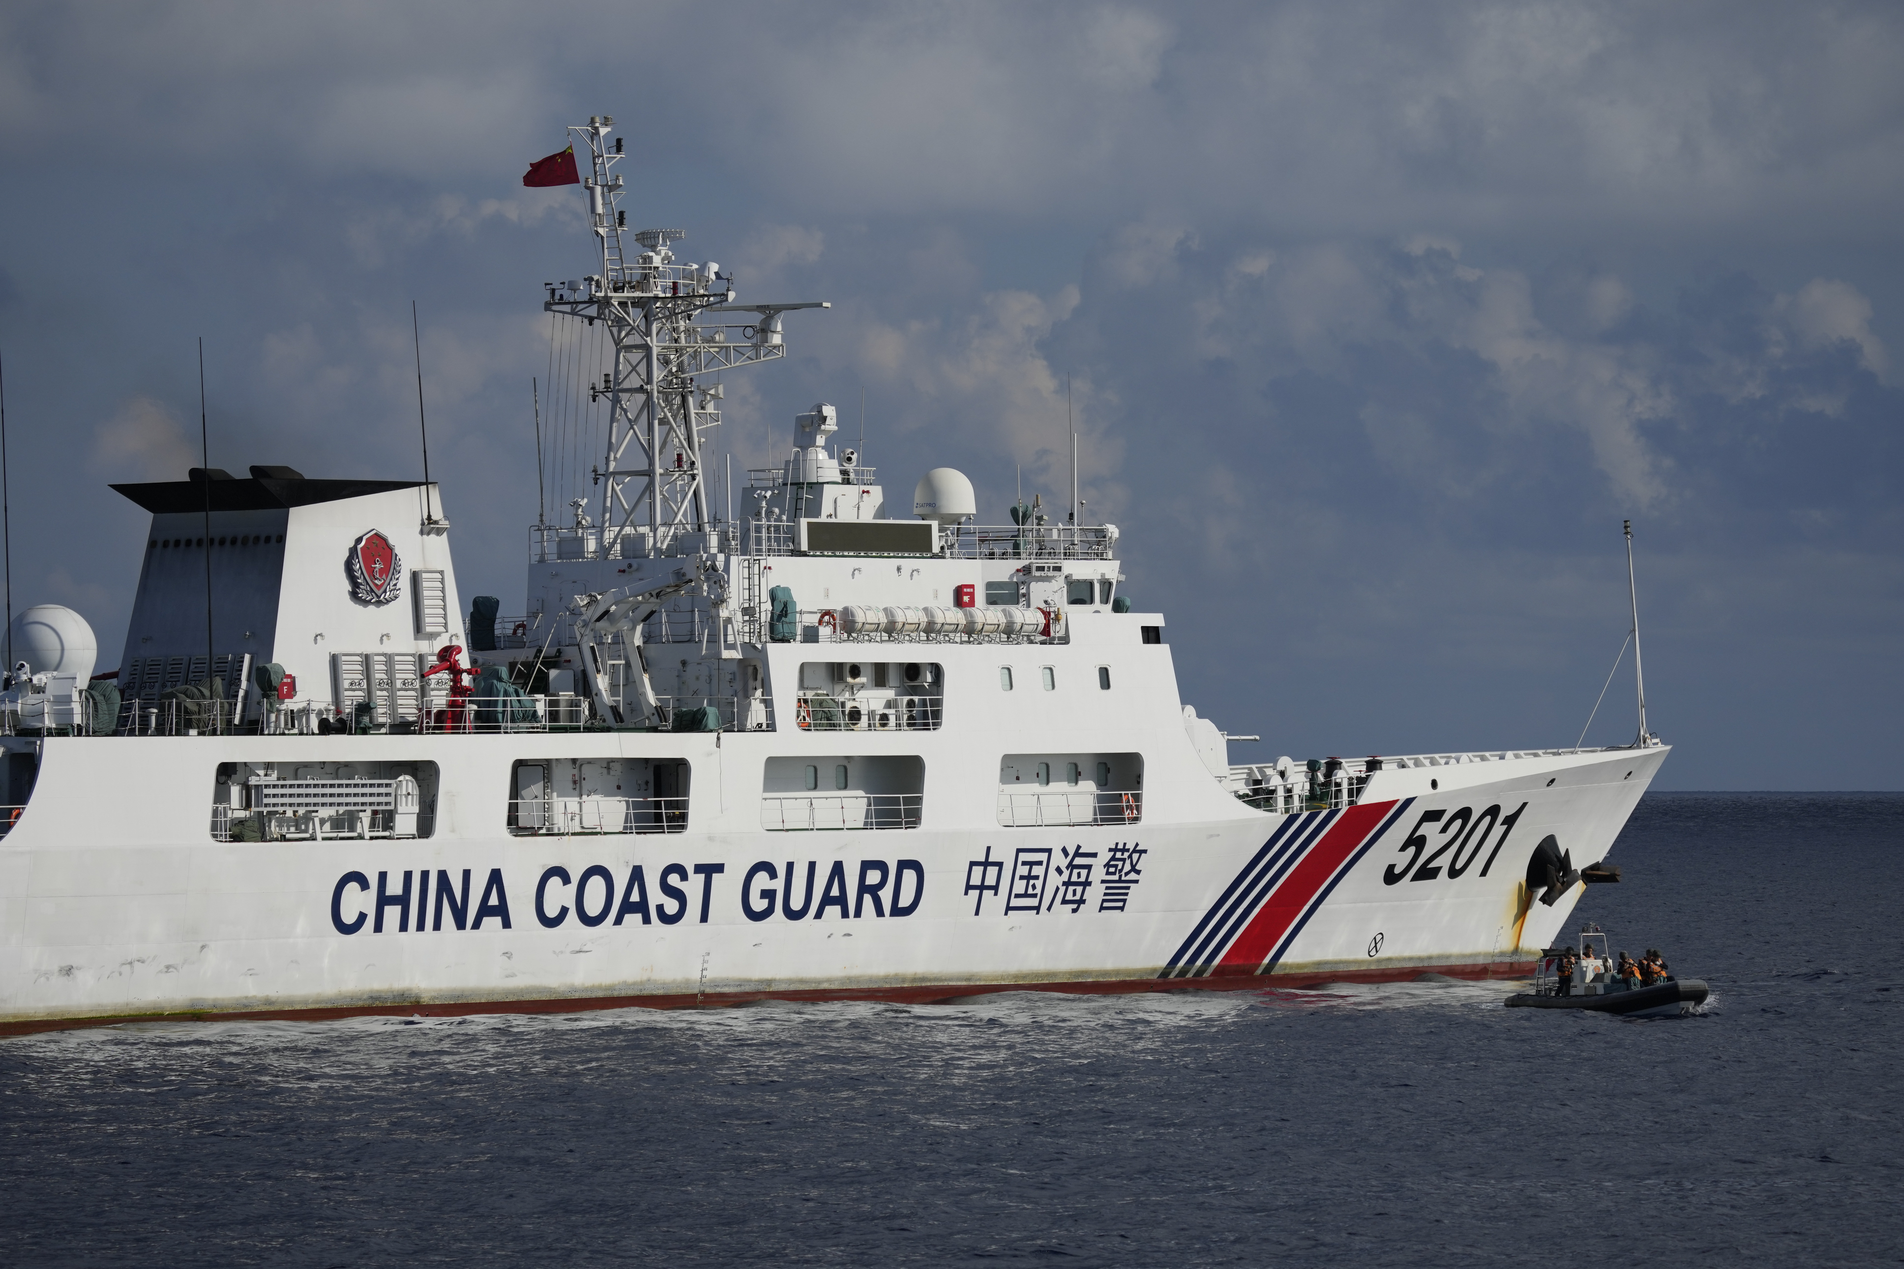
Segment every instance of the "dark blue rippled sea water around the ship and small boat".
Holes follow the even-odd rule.
[[[19,1265],[1904,1258],[1904,795],[1649,795],[1506,986],[168,1024],[0,1041]]]

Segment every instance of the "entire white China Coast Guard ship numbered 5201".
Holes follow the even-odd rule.
[[[613,346],[600,498],[497,618],[432,483],[118,485],[116,677],[72,613],[13,628],[0,1027],[1529,972],[1666,757],[1643,715],[1232,765],[1112,525],[979,525],[944,468],[887,506],[828,405],[716,506],[720,377],[811,304],[625,230],[611,120],[575,133],[598,272],[545,306]]]

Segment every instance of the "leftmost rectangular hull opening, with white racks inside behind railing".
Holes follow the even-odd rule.
[[[430,837],[436,788],[436,763],[219,763],[211,839]]]

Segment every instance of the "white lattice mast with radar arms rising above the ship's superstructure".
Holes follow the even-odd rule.
[[[720,426],[722,384],[697,379],[737,365],[786,356],[781,314],[830,308],[824,303],[735,304],[733,278],[720,264],[678,264],[670,244],[678,228],[642,228],[628,261],[623,234],[628,213],[613,167],[623,139],[609,143],[615,120],[594,114],[569,127],[588,146],[592,171],[583,179],[588,217],[600,249],[600,272],[581,282],[545,283],[548,312],[607,327],[615,367],[588,386],[609,403],[607,451],[594,479],[602,485],[602,554],[607,557],[684,556],[712,550],[701,439]],[[704,323],[703,314],[754,314],[752,322]]]

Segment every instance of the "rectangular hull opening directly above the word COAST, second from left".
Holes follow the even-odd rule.
[[[691,767],[676,757],[552,757],[516,763],[508,831],[680,833]]]

